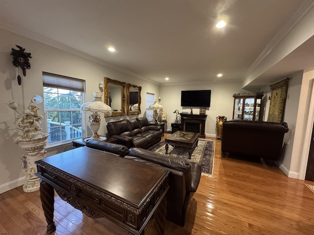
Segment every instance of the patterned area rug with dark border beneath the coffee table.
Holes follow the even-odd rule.
[[[198,163],[202,167],[202,175],[212,177],[212,169],[215,156],[215,141],[210,140],[198,140],[198,146],[195,147],[191,159],[188,159],[188,149],[169,145],[168,155],[186,159],[194,163]],[[165,141],[162,140],[152,148],[150,151],[166,154]]]

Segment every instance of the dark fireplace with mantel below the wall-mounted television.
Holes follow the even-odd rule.
[[[200,133],[200,137],[205,138],[205,122],[207,115],[180,114],[181,131]]]

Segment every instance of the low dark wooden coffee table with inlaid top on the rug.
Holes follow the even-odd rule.
[[[180,146],[188,148],[188,159],[191,159],[191,155],[197,146],[199,135],[200,133],[176,131],[165,139],[166,154],[168,154],[168,148],[170,144],[173,147]]]

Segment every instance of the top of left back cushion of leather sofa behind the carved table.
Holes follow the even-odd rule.
[[[114,153],[119,155],[120,157],[124,157],[129,153],[129,149],[126,146],[106,141],[89,140],[86,142],[86,146]]]

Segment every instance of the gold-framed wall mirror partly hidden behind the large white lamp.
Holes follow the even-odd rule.
[[[126,95],[125,95],[125,82],[104,78],[104,100],[105,104],[109,105],[112,110],[111,116],[123,116],[126,115]]]

